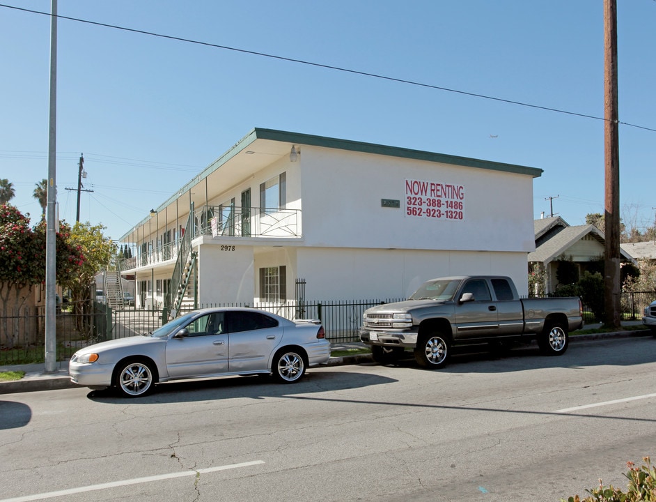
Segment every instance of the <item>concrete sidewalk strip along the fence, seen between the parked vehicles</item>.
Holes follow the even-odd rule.
[[[641,321],[627,321],[624,326],[639,326]],[[600,325],[589,324],[587,329],[598,328]],[[591,340],[608,340],[610,338],[628,338],[638,336],[651,336],[649,330],[634,331],[617,331],[612,333],[593,333],[589,335],[572,335],[570,343],[589,342]],[[336,343],[331,349],[333,351],[346,350],[352,348],[363,348],[365,344],[360,342]],[[331,357],[328,360],[329,366],[354,365],[361,363],[372,363],[370,353],[357,354],[355,356]],[[43,363],[31,365],[10,365],[0,366],[0,372],[6,371],[24,371],[25,376],[17,381],[2,382],[0,381],[0,394],[33,392],[36,390],[56,390],[63,388],[79,388],[80,386],[72,383],[68,377],[68,361],[57,363],[57,370],[52,373],[46,373]]]

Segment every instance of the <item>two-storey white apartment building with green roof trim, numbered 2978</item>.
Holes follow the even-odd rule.
[[[399,298],[431,277],[527,293],[542,169],[252,130],[122,238],[138,306]],[[191,217],[190,217],[191,215]]]

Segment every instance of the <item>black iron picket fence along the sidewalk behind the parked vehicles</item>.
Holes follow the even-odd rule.
[[[622,295],[622,319],[641,319],[644,307],[656,299],[655,291],[625,292]],[[232,303],[203,307],[253,307],[279,314],[286,319],[319,319],[328,340],[334,343],[359,340],[362,314],[369,307],[399,299],[366,301],[302,301],[299,303]],[[153,331],[167,319],[166,310],[127,308],[111,310],[95,304],[85,314],[56,314],[56,354],[68,360],[77,349],[88,344],[115,338],[142,335]],[[601,322],[584,305],[586,324]],[[0,317],[0,366],[42,363],[45,356],[45,313],[22,309],[8,317]]]

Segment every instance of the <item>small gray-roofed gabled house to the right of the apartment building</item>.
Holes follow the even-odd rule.
[[[560,261],[572,261],[585,271],[590,261],[605,253],[604,233],[594,225],[571,227],[560,216],[535,220],[536,250],[529,253],[529,268],[545,271],[545,291],[553,293],[559,287],[556,277]],[[620,250],[621,261],[633,261],[632,255]]]

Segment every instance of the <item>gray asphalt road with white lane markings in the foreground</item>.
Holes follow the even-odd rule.
[[[0,502],[554,501],[656,458],[656,340],[0,396]]]

